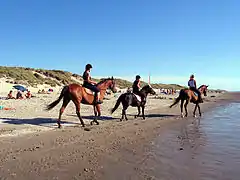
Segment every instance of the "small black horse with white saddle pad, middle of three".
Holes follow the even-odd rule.
[[[144,95],[144,99],[147,98],[148,94],[152,94],[152,95],[156,94],[156,92],[152,89],[150,85],[144,86],[140,91]],[[121,94],[117,99],[117,102],[114,108],[111,110],[111,113],[113,113],[118,108],[120,103],[122,103],[122,106],[123,106],[122,118],[120,119],[120,121],[122,121],[124,117],[125,117],[125,120],[128,120],[126,115],[126,110],[129,106],[138,108],[138,115],[135,115],[135,118],[140,116],[140,108],[142,108],[142,116],[143,116],[143,119],[145,119],[144,108],[145,108],[146,101],[141,102],[140,96],[135,95],[131,92]]]

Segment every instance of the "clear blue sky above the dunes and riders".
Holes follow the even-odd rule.
[[[0,65],[240,90],[238,0],[0,1]]]

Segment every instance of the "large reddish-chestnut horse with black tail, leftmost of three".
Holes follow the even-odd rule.
[[[101,82],[99,82],[96,85],[99,90],[100,90],[100,100],[103,100],[104,95],[106,93],[106,90],[108,88],[110,88],[113,92],[116,92],[116,88],[115,88],[115,80],[112,78],[108,78],[108,79],[103,79]],[[99,122],[97,121],[97,116],[101,116],[101,110],[100,110],[100,105],[99,104],[95,104],[95,100],[94,100],[94,94],[91,90],[86,89],[84,87],[82,87],[79,84],[70,84],[68,86],[65,86],[62,89],[62,92],[59,96],[59,98],[52,102],[51,104],[49,104],[46,108],[46,110],[51,110],[52,108],[54,108],[63,98],[63,104],[62,107],[60,109],[59,112],[59,118],[57,121],[58,124],[58,128],[61,127],[61,116],[64,112],[64,109],[66,108],[66,106],[68,105],[68,103],[72,100],[73,103],[76,106],[76,114],[82,124],[82,126],[84,127],[85,124],[82,120],[82,117],[80,115],[80,104],[87,104],[87,105],[92,105],[93,109],[94,109],[94,120],[91,121],[91,125],[93,122],[95,122],[96,124],[99,124]]]

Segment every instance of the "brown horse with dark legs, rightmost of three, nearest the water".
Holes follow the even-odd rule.
[[[208,86],[206,85],[202,85],[198,88],[198,90],[200,91],[201,94],[203,94],[204,96],[207,96],[207,88]],[[184,104],[184,108],[185,108],[185,116],[187,117],[188,115],[188,111],[187,111],[187,105],[189,102],[192,102],[195,104],[195,108],[194,108],[194,111],[193,111],[193,116],[196,117],[195,113],[196,113],[196,110],[198,108],[198,111],[199,111],[199,116],[202,115],[201,113],[201,109],[200,109],[200,106],[199,106],[199,100],[198,100],[198,96],[190,89],[181,89],[180,92],[179,92],[179,96],[177,97],[177,99],[175,100],[175,102],[170,106],[173,107],[174,105],[176,105],[177,103],[179,103],[179,101],[181,100],[181,116],[184,117],[184,114],[183,114],[183,103],[184,101],[185,104]]]

